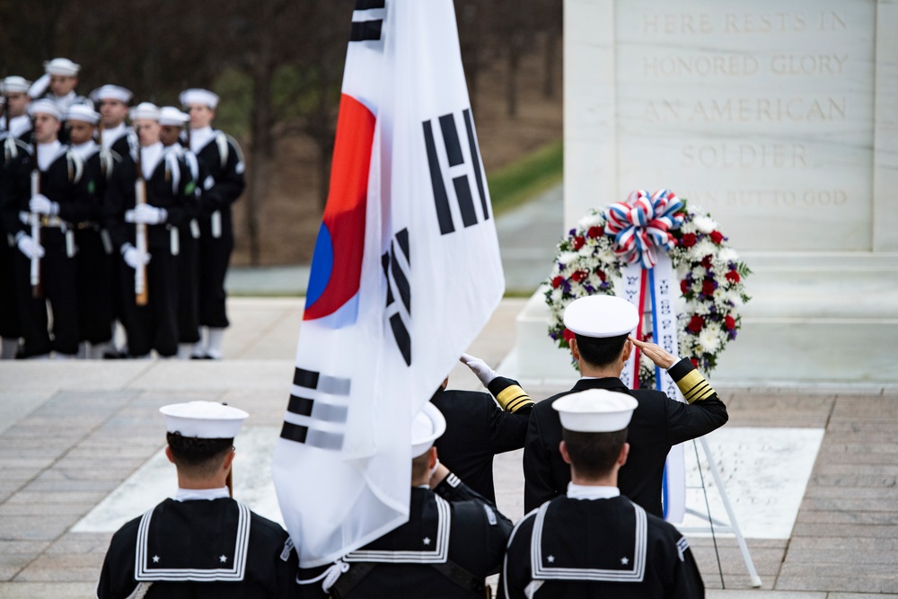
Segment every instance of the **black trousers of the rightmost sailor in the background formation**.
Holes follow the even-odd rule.
[[[231,210],[221,211],[221,237],[212,236],[210,216],[199,218],[199,324],[224,329],[230,323],[225,310],[225,276],[233,252]]]

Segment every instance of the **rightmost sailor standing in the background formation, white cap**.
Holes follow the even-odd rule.
[[[222,338],[229,322],[225,309],[225,276],[233,251],[231,205],[246,186],[243,154],[237,141],[212,128],[219,98],[208,90],[189,89],[180,103],[190,115],[190,150],[215,181],[203,192],[199,216],[199,324],[205,342],[193,357],[221,359]]]

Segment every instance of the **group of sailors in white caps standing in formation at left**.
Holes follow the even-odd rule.
[[[0,82],[0,357],[221,359],[245,181],[218,96],[132,106],[118,85],[79,95],[67,58],[44,67]]]

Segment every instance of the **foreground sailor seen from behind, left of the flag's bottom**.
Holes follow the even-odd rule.
[[[178,492],[112,536],[98,599],[295,597],[286,531],[230,497],[233,440],[247,413],[214,401],[164,406]]]

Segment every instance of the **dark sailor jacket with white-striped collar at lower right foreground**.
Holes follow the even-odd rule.
[[[689,543],[626,497],[544,503],[508,542],[499,597],[705,596]]]

